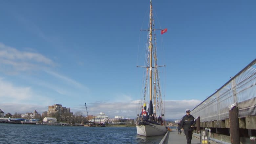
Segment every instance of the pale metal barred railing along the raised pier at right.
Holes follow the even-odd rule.
[[[235,104],[239,117],[256,115],[256,59],[196,106],[191,114],[200,121],[229,118],[228,106]]]

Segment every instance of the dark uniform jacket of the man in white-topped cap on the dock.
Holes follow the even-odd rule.
[[[181,129],[185,131],[193,131],[194,129],[191,126],[196,125],[196,119],[193,115],[184,115],[181,120]]]

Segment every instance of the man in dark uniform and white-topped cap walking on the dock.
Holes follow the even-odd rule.
[[[186,115],[184,115],[181,120],[181,129],[183,129],[186,134],[187,144],[191,144],[193,127],[195,125],[196,119],[190,114],[190,110],[186,110]]]

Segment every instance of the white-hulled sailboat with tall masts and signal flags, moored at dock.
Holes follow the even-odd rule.
[[[147,46],[146,46],[146,66],[137,66],[145,68],[143,92],[138,107],[136,128],[137,134],[142,136],[156,136],[164,135],[167,132],[167,127],[164,119],[164,102],[160,89],[160,73],[158,69],[157,47],[156,47],[156,33],[160,30],[161,34],[165,33],[167,29],[154,29],[154,20],[152,14],[152,0],[150,0],[150,15],[149,15],[148,30],[141,30],[148,32]],[[152,34],[154,32],[154,34]],[[147,109],[147,106],[148,109]]]

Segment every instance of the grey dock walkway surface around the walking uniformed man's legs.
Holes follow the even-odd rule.
[[[184,133],[178,134],[178,131],[171,131],[166,137],[164,144],[187,144],[186,135]],[[193,136],[191,144],[200,144],[200,138]]]

